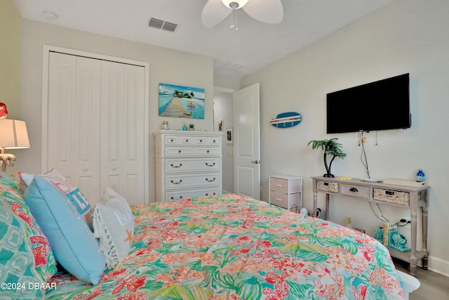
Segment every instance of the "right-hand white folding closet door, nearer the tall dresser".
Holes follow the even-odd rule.
[[[143,203],[145,68],[103,61],[101,79],[101,187]]]

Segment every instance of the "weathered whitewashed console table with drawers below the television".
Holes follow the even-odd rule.
[[[326,211],[324,219],[328,219],[329,195],[341,195],[358,200],[365,200],[380,204],[407,207],[410,209],[410,252],[399,252],[389,248],[390,255],[408,261],[410,274],[416,275],[417,261],[422,259],[422,268],[427,270],[427,217],[429,205],[429,185],[412,187],[406,185],[393,185],[386,183],[361,181],[359,179],[342,180],[328,177],[312,177],[314,190],[314,211],[316,211],[317,193],[326,194]],[[417,213],[422,216],[422,251],[416,250],[417,240]]]

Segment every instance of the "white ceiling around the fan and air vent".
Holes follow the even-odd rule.
[[[260,1],[260,0],[250,0]],[[238,11],[215,27],[201,24],[206,0],[13,0],[22,18],[210,56],[214,74],[241,78],[394,0],[282,0],[283,21],[269,25]],[[58,15],[48,20],[43,12]],[[150,18],[177,24],[148,27]],[[229,63],[244,65],[228,70]]]

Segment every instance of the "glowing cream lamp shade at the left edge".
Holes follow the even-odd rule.
[[[0,119],[0,148],[29,148],[27,124],[20,120]]]

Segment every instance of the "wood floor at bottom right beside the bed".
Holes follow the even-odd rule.
[[[408,273],[408,263],[394,259],[394,265]],[[418,267],[416,278],[421,286],[410,294],[410,300],[449,300],[449,277]]]

